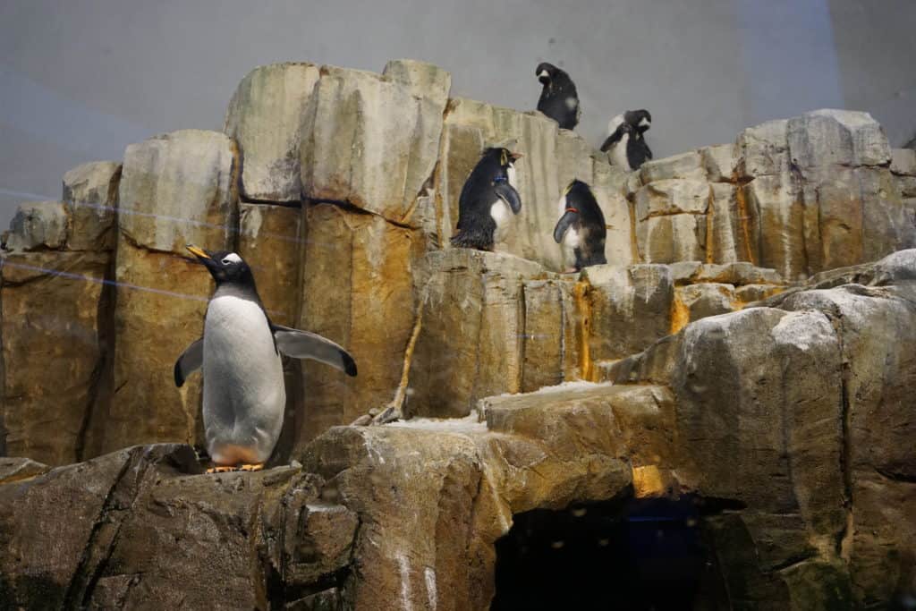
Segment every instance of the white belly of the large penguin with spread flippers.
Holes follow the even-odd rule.
[[[265,462],[285,407],[283,366],[267,317],[253,300],[217,293],[203,329],[203,428],[213,462]]]

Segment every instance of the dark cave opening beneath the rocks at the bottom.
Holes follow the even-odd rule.
[[[496,541],[494,611],[718,609],[727,595],[696,496],[534,509]]]

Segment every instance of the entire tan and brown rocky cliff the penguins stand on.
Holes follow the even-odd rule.
[[[22,206],[0,267],[0,453],[22,457],[0,464],[0,599],[484,608],[526,512],[679,497],[706,507],[703,608],[912,593],[913,151],[816,111],[627,174],[450,85],[410,60],[261,67],[224,133],[150,138]],[[525,155],[522,212],[497,252],[453,249],[495,145]],[[609,264],[562,274],[573,178]],[[187,243],[245,256],[274,320],[359,363],[288,364],[273,463],[293,466],[202,475],[181,445],[201,380],[171,366],[212,290]],[[367,413],[411,420],[342,426]]]

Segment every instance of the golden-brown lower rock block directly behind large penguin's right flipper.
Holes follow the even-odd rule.
[[[419,232],[376,214],[316,204],[305,208],[305,224],[297,326],[342,344],[359,374],[302,362],[303,441],[394,398],[414,326],[413,262],[422,252]]]

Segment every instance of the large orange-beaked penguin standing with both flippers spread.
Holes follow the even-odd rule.
[[[321,335],[270,322],[255,277],[241,256],[188,250],[210,271],[216,289],[207,304],[203,337],[175,362],[175,386],[203,367],[203,431],[210,471],[260,469],[283,425],[286,388],[280,354],[311,358],[356,375],[353,357]]]

